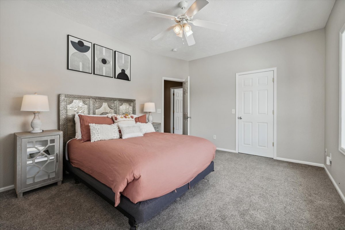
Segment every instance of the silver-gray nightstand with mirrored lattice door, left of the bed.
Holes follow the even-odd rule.
[[[62,132],[14,133],[16,166],[14,188],[17,197],[23,192],[62,181]]]

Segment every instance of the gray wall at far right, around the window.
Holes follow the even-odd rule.
[[[325,148],[332,165],[324,164],[345,195],[345,155],[339,152],[339,32],[345,23],[345,1],[334,3],[325,27]]]

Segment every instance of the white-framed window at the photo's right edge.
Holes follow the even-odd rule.
[[[339,34],[339,151],[345,155],[345,24]]]

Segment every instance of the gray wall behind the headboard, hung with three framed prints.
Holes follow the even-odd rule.
[[[162,77],[186,78],[188,62],[152,54],[25,1],[0,1],[0,188],[13,184],[13,133],[31,130],[24,94],[48,95],[45,130],[58,128],[58,94],[134,98],[137,112],[162,104]],[[67,34],[131,55],[131,81],[67,70]],[[179,68],[176,68],[178,66]],[[162,122],[162,114],[153,113]]]

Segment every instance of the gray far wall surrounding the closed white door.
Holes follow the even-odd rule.
[[[323,164],[324,38],[319,29],[189,61],[191,135],[235,150],[235,74],[277,67],[277,157]]]

